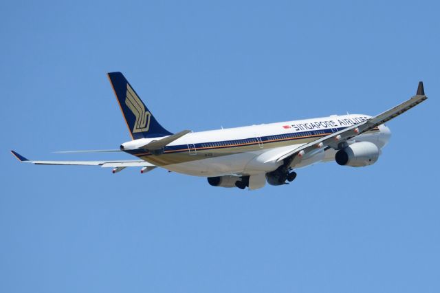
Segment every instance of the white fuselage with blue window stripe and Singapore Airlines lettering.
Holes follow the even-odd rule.
[[[203,177],[254,175],[277,169],[282,164],[275,160],[280,153],[287,153],[316,138],[369,118],[371,116],[366,115],[329,116],[188,133],[168,144],[161,155],[138,149],[161,138],[132,140],[122,146],[127,153],[178,173]],[[356,136],[349,143],[368,141],[382,149],[390,137],[390,129],[382,124]],[[333,149],[318,150],[309,154],[295,168],[333,161],[335,153]]]

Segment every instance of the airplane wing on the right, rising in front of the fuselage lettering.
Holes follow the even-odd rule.
[[[379,115],[374,116],[369,120],[360,122],[351,127],[347,127],[346,129],[337,131],[335,133],[332,133],[331,135],[327,135],[324,138],[319,138],[318,140],[303,144],[297,149],[280,155],[278,159],[276,159],[276,162],[281,162],[285,160],[285,162],[288,162],[289,165],[294,165],[300,162],[301,158],[303,158],[304,155],[311,154],[317,149],[340,149],[338,145],[340,145],[341,142],[345,142],[351,138],[354,138],[357,135],[360,135],[379,126],[380,124],[384,124],[385,122],[399,116],[401,113],[408,111],[412,107],[419,105],[419,103],[423,102],[426,99],[427,97],[425,96],[423,83],[419,82],[417,94],[415,96],[412,96],[409,100],[406,100],[406,102],[402,102],[396,107],[393,107],[388,111],[384,111],[383,113],[380,113]]]

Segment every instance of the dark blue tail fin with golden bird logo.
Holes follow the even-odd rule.
[[[157,122],[122,73],[110,72],[107,75],[133,140],[173,134]]]

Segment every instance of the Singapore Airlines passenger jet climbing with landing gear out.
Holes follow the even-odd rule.
[[[369,166],[391,138],[385,122],[427,99],[423,82],[417,94],[377,116],[332,115],[306,120],[259,124],[230,129],[171,133],[164,129],[120,72],[107,74],[132,140],[116,150],[66,151],[65,153],[122,151],[138,160],[39,161],[43,165],[86,165],[113,168],[140,167],[147,173],[157,167],[186,175],[207,177],[211,186],[255,190],[289,184],[294,170],[320,162],[341,166]]]

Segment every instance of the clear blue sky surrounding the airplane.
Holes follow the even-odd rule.
[[[438,1],[3,1],[0,292],[440,292]],[[209,3],[212,2],[212,3]],[[375,115],[377,164],[250,192],[19,164],[129,140],[120,71],[170,131]]]

